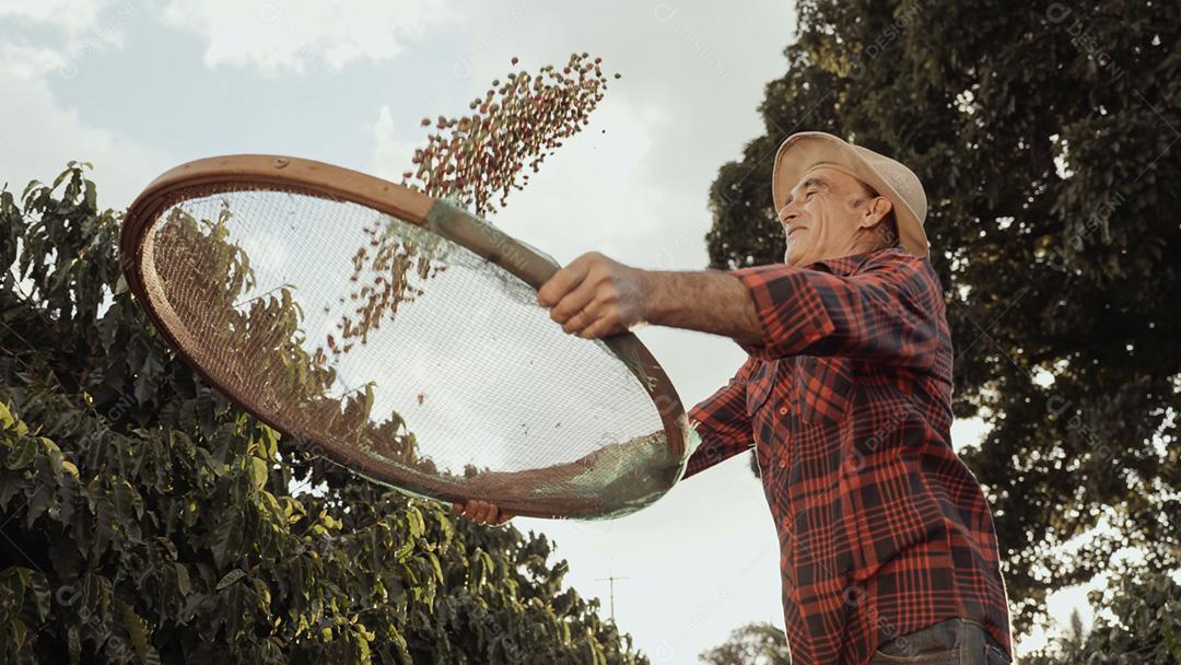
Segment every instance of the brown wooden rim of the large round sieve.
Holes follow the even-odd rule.
[[[559,266],[548,256],[445,201],[435,200],[407,187],[374,176],[322,162],[275,155],[228,155],[196,159],[163,172],[131,203],[120,229],[119,256],[128,286],[156,328],[190,367],[208,384],[226,393],[240,408],[291,438],[315,441],[315,437],[307,436],[306,432],[288,431],[288,429],[276,425],[274,418],[252,406],[248,399],[228,390],[221,382],[208,376],[201,363],[197,363],[185,351],[184,340],[178,339],[178,328],[181,328],[181,334],[184,334],[183,326],[169,322],[170,319],[175,321],[176,315],[162,311],[162,308],[167,308],[167,302],[161,304],[158,299],[148,293],[148,285],[155,281],[152,278],[155,270],[149,265],[150,261],[143,261],[144,255],[151,252],[151,247],[145,248],[145,235],[157,216],[176,201],[197,195],[195,193],[208,195],[250,189],[295,191],[376,209],[405,222],[428,228],[465,247],[517,276],[534,289],[540,288],[559,269]],[[690,428],[680,398],[664,369],[652,357],[648,348],[632,333],[612,335],[601,341],[639,379],[640,385],[644,386],[660,415],[670,458],[681,459],[690,436]],[[337,455],[342,454],[335,445],[325,444],[325,446],[332,449]],[[345,464],[347,468],[377,482],[405,484],[405,481],[410,481],[418,487],[428,485],[425,495],[415,491],[409,491],[409,494],[429,496],[441,501],[470,498],[462,496],[454,485],[443,481],[424,482],[423,475],[399,472],[397,469],[380,464],[364,455],[347,455],[347,457],[348,462]],[[338,463],[342,462],[338,461]],[[402,487],[398,489],[406,491]],[[503,507],[514,508],[509,504]],[[583,513],[574,503],[568,503],[557,513],[553,508],[522,506],[517,507],[515,511],[518,515],[537,517],[572,517]],[[592,513],[594,511],[592,510]]]

